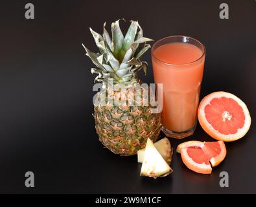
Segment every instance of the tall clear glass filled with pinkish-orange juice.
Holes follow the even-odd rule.
[[[204,45],[187,36],[170,36],[154,43],[151,54],[154,81],[163,83],[157,89],[163,94],[163,132],[174,138],[192,135],[204,72]]]

